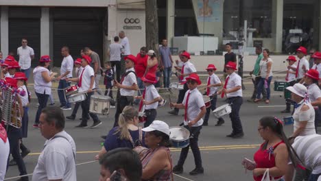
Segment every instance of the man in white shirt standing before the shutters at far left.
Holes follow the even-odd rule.
[[[25,73],[25,76],[29,79],[31,61],[34,60],[34,49],[27,45],[27,39],[23,38],[21,40],[21,47],[16,50],[17,55],[19,56],[19,65],[21,71]]]

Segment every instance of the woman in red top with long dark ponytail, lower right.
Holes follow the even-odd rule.
[[[292,167],[288,165],[289,160],[296,165],[294,149],[283,132],[283,122],[276,117],[263,117],[257,130],[264,143],[254,154],[254,162],[245,159],[242,165],[253,171],[254,180],[261,181],[267,169],[274,180],[282,180]]]

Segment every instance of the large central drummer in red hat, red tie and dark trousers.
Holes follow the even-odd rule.
[[[187,154],[189,153],[189,147],[191,147],[195,161],[195,169],[189,172],[189,174],[197,175],[199,173],[204,173],[200,148],[198,147],[198,136],[202,129],[202,117],[206,113],[206,108],[203,96],[197,88],[198,85],[202,84],[198,74],[193,73],[189,75],[189,77],[186,77],[186,81],[189,90],[185,93],[184,100],[180,104],[171,103],[171,107],[185,109],[184,128],[191,132],[191,138],[189,138],[189,145],[182,148],[180,159],[178,160],[178,164],[173,168],[173,172],[183,172],[183,165],[187,158]]]

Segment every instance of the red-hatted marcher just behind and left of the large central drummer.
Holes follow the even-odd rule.
[[[187,87],[186,84],[186,78],[189,77],[189,75],[191,75],[192,73],[196,73],[196,69],[194,67],[194,64],[192,64],[189,59],[191,59],[191,55],[189,54],[189,52],[187,51],[183,51],[182,53],[180,53],[180,60],[182,60],[183,62],[183,66],[182,68],[180,67],[175,67],[176,70],[180,70],[180,82],[181,84],[184,84],[184,88],[182,90],[179,91],[178,93],[178,100],[177,100],[177,104],[181,104],[186,91],[189,89]],[[178,114],[179,109],[175,108],[174,110],[169,111],[169,114],[173,114],[173,115],[177,115]]]

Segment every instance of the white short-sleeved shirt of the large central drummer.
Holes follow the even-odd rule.
[[[198,91],[198,88],[194,88],[193,90],[187,90],[185,93],[184,100],[182,101],[182,104],[185,106],[187,95],[189,95],[189,102],[187,106],[187,120],[192,121],[196,117],[198,117],[198,114],[201,112],[201,108],[205,106],[203,95]],[[184,121],[184,125],[188,125],[189,123],[187,121]],[[203,124],[203,119],[201,118],[195,125],[192,125],[192,127],[198,127]]]

